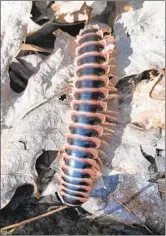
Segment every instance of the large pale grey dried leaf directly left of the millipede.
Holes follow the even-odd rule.
[[[59,32],[54,53],[31,76],[25,92],[11,101],[4,120],[12,128],[2,130],[2,207],[17,187],[35,183],[35,162],[42,150],[63,147],[69,107],[59,93],[71,77],[74,49],[73,37]]]

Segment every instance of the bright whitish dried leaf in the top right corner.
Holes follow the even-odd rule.
[[[120,78],[152,67],[165,68],[165,2],[141,0],[128,4],[133,10],[120,11],[114,24]]]

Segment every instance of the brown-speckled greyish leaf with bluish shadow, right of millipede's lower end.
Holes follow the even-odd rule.
[[[105,189],[92,194],[82,207],[104,222],[143,225],[159,232],[164,226],[164,202],[157,184],[133,175],[112,175],[104,178]],[[97,196],[97,197],[95,197]]]

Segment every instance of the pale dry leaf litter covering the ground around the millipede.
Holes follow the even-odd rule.
[[[138,224],[159,233],[164,228],[164,202],[161,199],[157,182],[149,181],[151,181],[153,174],[158,176],[156,178],[159,182],[160,179],[162,180],[160,176],[164,172],[162,165],[165,155],[163,144],[165,134],[162,131],[165,127],[162,115],[164,112],[163,95],[160,100],[154,99],[154,96],[159,96],[156,92],[157,86],[160,86],[158,88],[160,91],[164,88],[163,82],[153,87],[154,81],[156,82],[157,80],[155,79],[156,77],[149,79],[148,76],[145,76],[144,71],[147,71],[146,75],[150,75],[151,71],[160,71],[164,67],[164,52],[162,50],[164,32],[162,30],[158,31],[158,28],[162,28],[164,25],[164,13],[163,2],[140,2],[130,1],[127,3],[128,5],[123,4],[123,7],[119,5],[118,17],[113,25],[117,39],[117,59],[120,72],[120,80],[116,87],[119,89],[121,96],[118,102],[114,101],[109,105],[112,108],[118,108],[118,119],[115,134],[110,140],[107,140],[110,145],[105,148],[106,153],[109,155],[107,158],[103,157],[105,164],[103,181],[97,184],[91,198],[82,208],[91,214],[93,219],[97,218],[99,222],[102,219],[106,219],[108,222],[116,221],[122,225],[134,226],[134,224]],[[10,3],[8,2],[8,4]],[[14,2],[14,4],[17,3]],[[63,9],[63,2],[60,4]],[[103,11],[105,11],[104,4],[107,3],[104,3],[102,8],[100,8],[100,1],[94,4],[98,4],[96,9],[89,2],[92,12],[97,12],[91,15],[93,16],[92,22],[94,19],[94,23],[98,23],[102,27],[103,24],[98,20],[95,22],[95,15],[99,15],[103,8]],[[116,3],[117,9],[118,4]],[[27,13],[29,14],[30,7],[27,8],[27,5],[28,3],[25,4],[24,9],[26,12],[29,11]],[[159,8],[158,11],[156,11],[157,7]],[[63,12],[62,9],[61,11]],[[78,14],[79,9],[77,9],[76,14]],[[110,9],[113,10],[114,7]],[[147,9],[150,9],[148,14]],[[71,13],[74,14],[74,10]],[[151,15],[155,15],[158,21],[152,22]],[[14,17],[16,20],[13,22],[16,22],[17,26],[15,28],[17,29],[18,16],[15,15]],[[99,18],[96,17],[96,19]],[[86,19],[81,18],[80,20]],[[112,25],[109,20],[110,18],[106,18],[105,23]],[[50,25],[48,21],[49,19],[47,24]],[[26,20],[26,22],[30,21]],[[43,57],[41,59],[39,59],[39,53],[30,53],[31,57],[36,57],[33,59],[36,61],[36,66],[34,66],[33,73],[29,76],[25,91],[16,94],[10,88],[6,65],[10,65],[18,53],[20,53],[20,56],[17,57],[18,60],[23,58],[26,66],[31,63],[31,59],[28,63],[25,62],[29,55],[26,55],[25,51],[21,51],[21,43],[18,46],[18,42],[21,42],[22,37],[24,40],[26,38],[25,28],[27,28],[27,24],[29,23],[25,23],[22,28],[19,28],[20,31],[15,31],[16,38],[19,38],[19,40],[16,40],[17,42],[14,41],[16,45],[14,47],[15,52],[7,50],[3,55],[6,58],[4,64],[2,64],[2,70],[4,71],[2,75],[4,84],[2,86],[1,118],[2,127],[4,127],[2,129],[1,157],[3,170],[1,181],[2,207],[7,207],[16,189],[25,184],[35,186],[34,192],[39,194],[40,179],[38,176],[40,173],[36,170],[36,161],[42,155],[43,150],[62,150],[65,142],[64,136],[68,130],[67,117],[64,114],[70,109],[70,94],[61,93],[60,91],[63,91],[69,85],[69,81],[72,80],[74,74],[73,61],[76,47],[74,37],[63,31],[57,31],[55,27],[56,29],[54,28],[55,30],[51,31],[51,34],[53,33],[52,36],[55,36],[54,40],[56,39],[52,52],[49,52],[48,55],[42,55],[41,53]],[[38,24],[38,27],[36,24]],[[131,24],[135,25],[134,31]],[[36,22],[33,27],[34,32],[37,32],[43,26],[39,26],[39,22]],[[44,27],[46,26],[44,25]],[[67,28],[67,25],[63,27]],[[145,30],[142,30],[142,27]],[[55,34],[54,31],[56,31]],[[31,28],[29,32],[33,32],[33,29]],[[152,38],[150,46],[155,49],[153,51],[149,48],[145,50],[143,47],[150,36]],[[158,37],[156,41],[154,40],[155,37]],[[140,47],[138,47],[138,43]],[[8,48],[8,45],[10,45],[8,41],[3,41],[2,48]],[[34,51],[33,48],[30,48],[30,50],[31,52]],[[144,53],[140,53],[143,50]],[[32,67],[32,65],[28,66]],[[18,74],[16,77],[18,77]],[[64,97],[64,100],[61,99],[62,97]],[[144,102],[145,100],[146,103]],[[156,116],[154,116],[154,113],[156,113]],[[150,161],[143,156],[140,146],[144,152],[152,157],[149,159]],[[51,169],[58,165],[56,164],[56,156],[57,154],[55,153],[55,162],[52,162]],[[157,172],[154,168],[151,169],[154,163],[157,166]],[[44,180],[44,176],[42,178]],[[48,186],[45,187],[43,192],[42,188],[40,192],[43,204],[47,203],[49,196],[54,196],[58,188],[57,173],[51,179],[51,182],[48,183]],[[53,199],[52,204],[54,204]],[[40,208],[40,201],[37,206]],[[62,213],[62,217],[70,217],[70,215],[72,215],[70,210],[68,213]],[[62,226],[62,228],[64,227]],[[68,229],[67,225],[66,229]],[[62,229],[59,230],[61,231]]]

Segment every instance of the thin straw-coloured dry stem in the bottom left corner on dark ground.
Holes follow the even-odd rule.
[[[12,224],[12,225],[5,226],[5,227],[3,227],[3,228],[0,228],[0,232],[2,233],[2,232],[5,231],[5,230],[13,229],[13,228],[16,228],[16,227],[19,227],[19,226],[28,224],[28,223],[30,223],[30,222],[33,222],[33,221],[35,221],[35,220],[38,220],[38,219],[47,217],[47,216],[52,215],[52,214],[54,214],[54,213],[56,213],[56,212],[58,212],[58,211],[62,211],[62,210],[64,210],[64,209],[66,209],[67,207],[68,207],[68,206],[60,207],[60,208],[58,208],[58,209],[54,209],[54,210],[49,211],[49,212],[46,212],[46,213],[44,213],[44,214],[42,214],[42,215],[34,216],[34,217],[30,218],[30,219],[27,219],[27,220],[18,222],[18,223],[16,223],[16,224]]]

